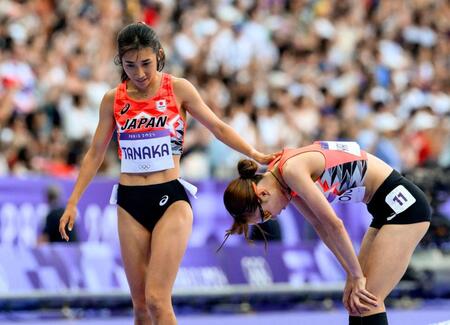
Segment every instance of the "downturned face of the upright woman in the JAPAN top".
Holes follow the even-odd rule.
[[[122,66],[131,82],[141,90],[149,87],[156,75],[156,53],[150,47],[125,52]]]

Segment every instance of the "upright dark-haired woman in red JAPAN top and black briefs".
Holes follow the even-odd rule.
[[[118,229],[135,324],[176,324],[171,292],[193,218],[185,190],[193,186],[179,179],[186,112],[219,140],[260,163],[275,155],[264,155],[246,143],[209,109],[190,82],[161,72],[165,55],[150,27],[126,26],[117,46],[122,83],[102,100],[100,121],[59,231],[68,240],[66,226],[72,229],[76,205],[116,129],[121,158]]]

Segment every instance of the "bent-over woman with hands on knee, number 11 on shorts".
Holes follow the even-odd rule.
[[[318,141],[284,150],[264,174],[242,160],[224,193],[234,233],[265,222],[290,202],[312,224],[347,272],[343,303],[350,324],[387,324],[384,299],[397,285],[426,233],[431,209],[424,193],[356,142]],[[365,202],[373,221],[356,256],[332,202]]]

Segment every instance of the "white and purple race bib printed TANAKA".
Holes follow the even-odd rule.
[[[122,173],[149,173],[173,168],[170,131],[121,133]]]

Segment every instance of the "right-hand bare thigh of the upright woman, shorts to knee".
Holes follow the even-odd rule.
[[[192,232],[192,209],[186,201],[174,202],[152,233],[152,255],[147,289],[170,295]]]

